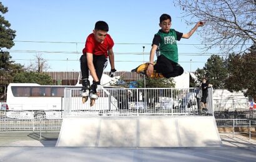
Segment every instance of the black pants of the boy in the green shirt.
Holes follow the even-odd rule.
[[[164,55],[157,57],[157,64],[154,65],[154,70],[164,75],[165,78],[177,77],[184,72],[179,64],[167,59]]]

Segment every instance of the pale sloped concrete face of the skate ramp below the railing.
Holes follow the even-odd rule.
[[[212,147],[222,142],[214,117],[64,117],[56,146]]]

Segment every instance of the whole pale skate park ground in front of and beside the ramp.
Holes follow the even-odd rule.
[[[59,132],[0,133],[0,161],[255,161],[256,138],[220,133],[220,147],[55,147]]]

